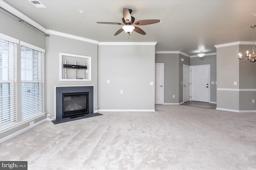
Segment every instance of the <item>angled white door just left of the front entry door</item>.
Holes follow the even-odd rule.
[[[190,97],[190,67],[183,65],[183,102],[189,101]]]

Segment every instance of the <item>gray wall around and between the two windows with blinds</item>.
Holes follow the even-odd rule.
[[[23,22],[19,22],[17,18],[14,16],[8,14],[7,12],[0,10],[0,32],[2,34],[5,34],[7,36],[11,36],[13,38],[16,38],[18,40],[30,43],[32,45],[36,45],[38,47],[41,47],[43,49],[46,49],[46,38],[45,35],[41,32],[37,31],[36,29],[30,27],[28,24],[25,24]],[[18,60],[17,60],[17,69],[20,70],[20,45],[18,45]],[[46,67],[46,66],[45,66]],[[20,71],[18,71],[17,75],[17,112],[18,122],[21,122],[21,78],[20,78]],[[45,109],[46,110],[46,109]],[[39,121],[42,121],[46,119],[46,115],[34,119],[34,123],[37,123]],[[31,120],[32,121],[32,120]],[[0,134],[0,138],[4,138],[14,132],[17,132],[19,130],[22,130],[23,128],[29,127],[30,123],[25,123],[23,125],[20,125],[16,128],[12,128],[11,130],[8,130],[6,132],[2,132]]]

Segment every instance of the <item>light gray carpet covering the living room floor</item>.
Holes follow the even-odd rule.
[[[256,168],[256,114],[180,105],[47,121],[0,145],[29,170]]]

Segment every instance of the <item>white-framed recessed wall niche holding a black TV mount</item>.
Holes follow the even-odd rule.
[[[91,81],[91,63],[92,57],[60,53],[60,81]]]

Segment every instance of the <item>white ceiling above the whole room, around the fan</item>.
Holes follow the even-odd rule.
[[[256,25],[256,0],[40,0],[46,8],[28,0],[5,2],[49,30],[99,42],[157,42],[156,51],[188,55],[214,53],[218,44],[252,42],[250,26]],[[162,23],[139,26],[146,35],[132,32],[130,39],[125,32],[114,36],[120,25],[96,23],[122,23],[124,7],[132,9],[135,20]]]

